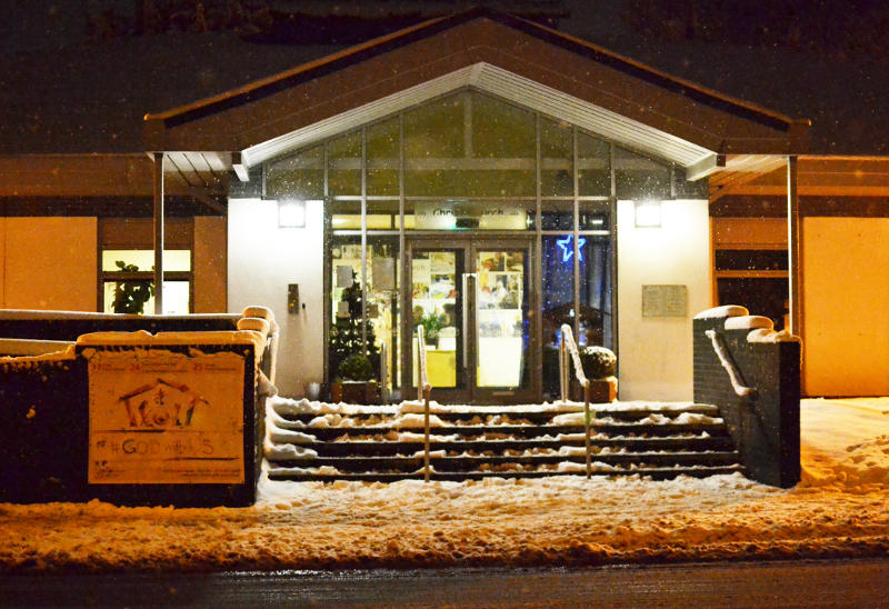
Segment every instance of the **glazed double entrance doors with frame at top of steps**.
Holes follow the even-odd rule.
[[[530,239],[475,238],[407,241],[401,332],[404,385],[416,391],[417,326],[421,325],[429,380],[438,400],[535,400],[531,243]]]

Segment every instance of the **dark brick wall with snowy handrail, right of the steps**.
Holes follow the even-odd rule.
[[[749,330],[726,330],[725,321],[695,319],[695,401],[719,407],[750,478],[792,487],[800,479],[800,343],[748,342]],[[721,338],[753,395],[735,391],[707,330]]]

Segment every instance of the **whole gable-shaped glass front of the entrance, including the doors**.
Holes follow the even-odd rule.
[[[552,353],[562,323],[573,327],[580,345],[617,348],[617,200],[686,192],[677,181],[683,179],[668,162],[467,89],[269,161],[263,188],[269,198],[326,200],[329,323],[332,328],[342,316],[358,316],[366,348],[371,342],[374,352],[386,347],[390,390],[413,386],[406,368],[412,367],[416,349],[406,340],[413,337],[407,325],[436,315],[449,323],[439,329],[436,347],[442,351],[439,372],[447,386],[459,386],[462,375],[479,387],[530,386],[538,397],[555,397]],[[436,251],[428,242],[433,238]],[[447,272],[441,270],[447,267],[442,239],[457,248]],[[516,240],[528,249],[506,249]],[[476,268],[478,256],[498,251],[510,252],[515,269],[499,271],[500,277]],[[427,273],[433,262],[441,272]],[[453,293],[419,293],[418,273],[429,274],[427,292],[448,284]],[[412,277],[409,293],[401,290],[402,274]],[[360,288],[360,311],[343,308],[343,290],[350,286]],[[490,293],[482,293],[486,289]],[[461,290],[475,291],[466,297]],[[507,304],[498,301],[492,309],[496,290],[509,294],[516,302]],[[440,302],[432,296],[440,296]],[[456,316],[463,306],[475,309]],[[500,323],[495,332],[486,321],[492,313],[485,312],[492,310],[499,311],[498,323],[503,311],[525,312],[512,312],[518,317],[510,327]],[[500,340],[498,349],[515,341],[520,346],[516,370],[497,372],[502,379],[515,376],[515,383],[482,371],[488,358],[480,353],[493,348],[493,338]],[[328,355],[329,379],[336,377],[334,359]]]

